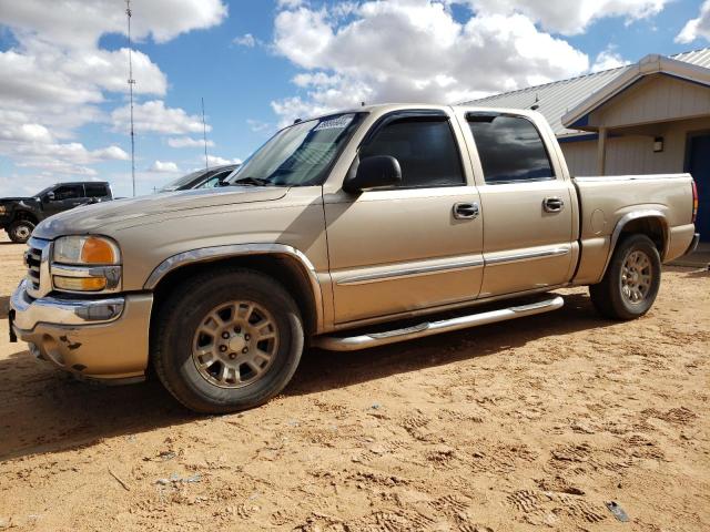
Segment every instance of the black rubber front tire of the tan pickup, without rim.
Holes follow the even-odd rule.
[[[251,300],[267,309],[278,342],[264,375],[243,388],[209,382],[193,359],[193,341],[205,316],[222,303]],[[288,383],[304,346],[298,307],[272,277],[243,268],[219,268],[174,289],[161,305],[151,339],[151,360],[163,386],[182,405],[201,413],[226,413],[263,405]]]

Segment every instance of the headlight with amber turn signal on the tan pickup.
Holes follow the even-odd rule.
[[[102,236],[63,236],[54,242],[52,285],[63,291],[116,291],[121,252]]]

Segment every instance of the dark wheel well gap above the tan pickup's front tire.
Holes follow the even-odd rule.
[[[311,288],[308,274],[304,272],[303,267],[295,259],[283,255],[271,254],[227,257],[204,263],[190,264],[170,272],[160,280],[153,291],[151,330],[153,329],[152,321],[156,316],[159,316],[162,304],[176,286],[192,276],[202,274],[209,269],[224,266],[254,269],[266,274],[277,283],[281,283],[293,296],[294,301],[298,306],[298,310],[301,310],[303,327],[306,335],[310,337],[315,334],[317,327],[316,295]]]

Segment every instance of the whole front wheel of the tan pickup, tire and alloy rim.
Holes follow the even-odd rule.
[[[254,408],[293,377],[304,346],[302,324],[295,301],[273,278],[215,269],[180,286],[162,305],[152,364],[168,391],[191,410]]]

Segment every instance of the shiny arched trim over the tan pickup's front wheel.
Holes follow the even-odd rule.
[[[143,288],[146,290],[153,290],[165,275],[189,264],[206,263],[220,258],[232,258],[246,255],[285,255],[294,258],[308,277],[315,300],[316,327],[317,330],[322,330],[323,294],[315,266],[313,266],[313,263],[303,252],[284,244],[233,244],[226,246],[202,247],[199,249],[179,253],[178,255],[173,255],[159,264],[148,277]]]

